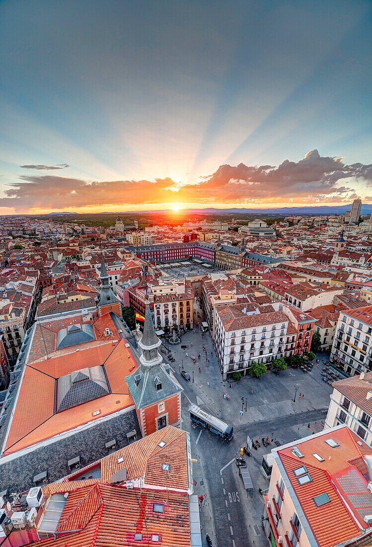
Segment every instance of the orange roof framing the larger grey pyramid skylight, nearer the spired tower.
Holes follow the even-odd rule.
[[[26,365],[4,456],[134,405],[125,376],[137,363],[125,347],[125,340],[115,345],[112,342],[92,344],[93,347]],[[54,414],[56,379],[97,365],[104,365],[111,393]],[[96,410],[101,412],[93,416]]]

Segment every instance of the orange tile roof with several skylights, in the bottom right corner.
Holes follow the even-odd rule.
[[[325,442],[327,439],[333,439],[339,446],[332,448]],[[293,454],[294,446],[298,447],[304,457],[300,458]],[[362,456],[372,455],[372,449],[369,446],[344,426],[324,430],[322,434],[275,451],[284,465],[287,477],[318,545],[332,547],[336,543],[342,543],[361,534],[361,528],[356,523],[360,517],[355,508],[351,505],[347,507],[345,504],[337,488],[336,477],[349,468],[355,469],[359,474],[365,471],[366,466],[362,463],[364,462]],[[324,461],[318,461],[313,456],[314,453],[324,458]],[[305,465],[310,474],[311,482],[299,485],[293,470],[302,465]],[[367,481],[364,478],[363,480],[367,488]],[[317,507],[312,498],[323,493],[328,494],[330,502]],[[365,527],[368,526],[365,525]]]

